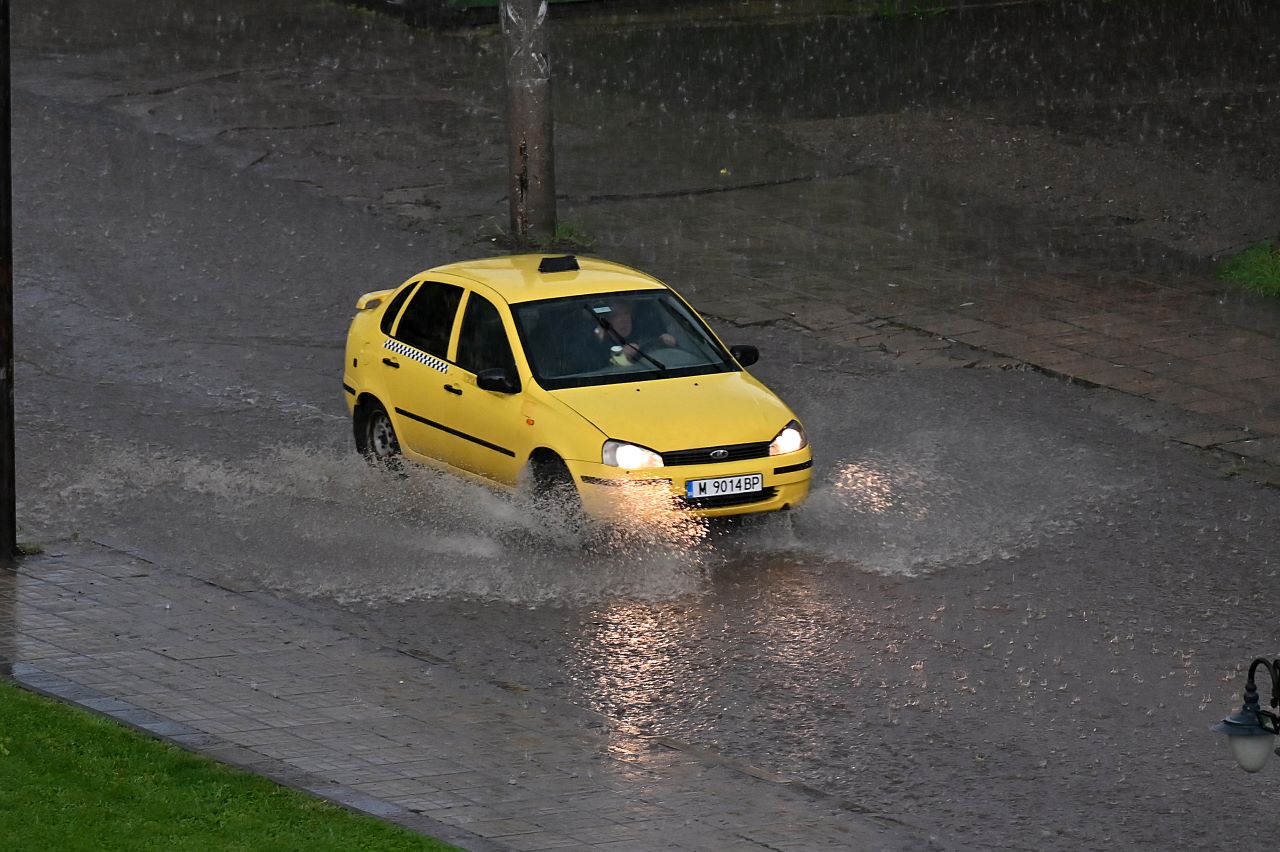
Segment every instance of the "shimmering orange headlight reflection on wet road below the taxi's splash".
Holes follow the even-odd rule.
[[[879,652],[876,626],[886,619],[879,604],[865,605],[865,618],[852,619],[863,631],[850,637],[859,604],[837,606],[814,580],[771,560],[708,595],[598,606],[573,638],[568,670],[588,706],[650,734],[698,742],[769,719],[804,739],[810,714],[797,711],[796,697],[860,678],[863,665],[846,661]]]

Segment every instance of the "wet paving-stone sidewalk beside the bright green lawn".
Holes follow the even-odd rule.
[[[952,848],[102,546],[0,571],[0,663],[27,688],[472,852]]]

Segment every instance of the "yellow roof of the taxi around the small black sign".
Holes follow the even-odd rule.
[[[566,271],[539,271],[544,261]],[[576,266],[576,269],[573,269]],[[457,278],[485,284],[508,303],[554,299],[591,293],[617,293],[620,290],[668,289],[666,284],[640,270],[599,260],[572,255],[507,255],[480,260],[447,264],[426,270],[447,272]]]

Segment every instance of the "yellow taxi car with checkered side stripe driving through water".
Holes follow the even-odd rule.
[[[356,448],[504,486],[623,493],[698,516],[795,507],[804,427],[671,288],[603,260],[517,255],[438,266],[361,296],[343,390]]]

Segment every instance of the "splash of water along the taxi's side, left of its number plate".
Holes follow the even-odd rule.
[[[672,599],[699,592],[713,558],[704,523],[669,505],[634,505],[626,523],[602,526],[521,491],[419,466],[397,475],[346,450],[278,448],[233,463],[115,448],[40,493],[24,516],[340,603]],[[175,530],[174,517],[201,522]]]

